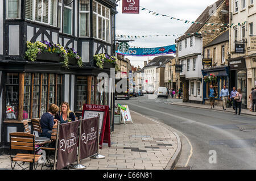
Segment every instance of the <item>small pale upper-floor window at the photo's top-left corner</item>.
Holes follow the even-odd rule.
[[[20,0],[7,0],[7,19],[17,19],[20,14]]]

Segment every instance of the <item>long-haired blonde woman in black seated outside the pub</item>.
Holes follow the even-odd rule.
[[[68,120],[76,120],[76,115],[70,110],[68,102],[63,102],[60,105],[60,112],[55,115],[55,119],[60,121],[60,124],[68,123]]]

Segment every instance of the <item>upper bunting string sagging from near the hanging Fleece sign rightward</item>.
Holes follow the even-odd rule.
[[[148,10],[148,9],[142,7],[142,6],[139,6],[139,7],[141,7],[142,11],[148,11],[148,13],[151,14],[151,15],[155,15],[155,16],[162,15],[162,16],[165,16],[165,17],[170,18],[172,20],[177,20],[177,21],[180,21],[180,22],[184,21],[184,23],[187,23],[187,24],[188,23],[191,23],[191,24],[196,23],[196,24],[206,24],[207,26],[218,25],[218,26],[227,26],[227,27],[231,28],[232,26],[242,26],[243,24],[246,23],[246,22],[243,22],[243,23],[238,23],[238,24],[235,24],[235,23],[230,24],[230,23],[203,23],[203,22],[195,22],[195,21],[191,21],[191,20],[185,20],[185,19],[180,19],[180,18],[175,18],[175,17],[172,17],[172,16],[160,14],[158,12],[154,12],[152,10]]]

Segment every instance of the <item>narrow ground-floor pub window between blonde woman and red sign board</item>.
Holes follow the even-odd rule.
[[[87,77],[77,77],[77,111],[82,111],[82,106],[87,103]]]

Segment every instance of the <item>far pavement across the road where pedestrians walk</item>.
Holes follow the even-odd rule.
[[[182,99],[168,98],[167,102],[168,102],[168,104],[173,104],[173,105],[188,106],[188,107],[195,107],[195,108],[203,108],[203,109],[210,110],[210,105],[183,102]],[[212,109],[213,110],[217,110],[217,111],[224,111],[222,106],[214,106],[214,108],[212,108]],[[233,113],[235,113],[236,110],[233,110],[232,107],[229,107],[229,108],[227,107],[226,108],[226,112],[233,112]],[[241,114],[256,116],[256,112],[251,112],[248,109],[241,109]]]

